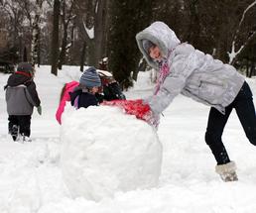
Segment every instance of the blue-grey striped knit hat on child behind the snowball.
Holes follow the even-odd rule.
[[[99,87],[101,86],[101,81],[98,76],[98,73],[95,69],[95,67],[91,66],[87,68],[81,75],[79,83],[86,87]]]

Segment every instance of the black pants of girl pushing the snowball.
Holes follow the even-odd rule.
[[[246,137],[250,143],[256,146],[256,115],[252,100],[252,92],[249,85],[244,82],[234,101],[225,108],[225,115],[211,107],[208,116],[208,124],[205,133],[205,142],[209,146],[217,164],[229,162],[221,136],[228,117],[235,109]]]

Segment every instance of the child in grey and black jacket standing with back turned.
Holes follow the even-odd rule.
[[[9,134],[13,141],[18,141],[19,135],[23,142],[30,142],[31,115],[34,106],[41,115],[42,108],[34,82],[35,70],[32,64],[21,62],[17,71],[10,75],[6,88],[7,112],[9,114]]]

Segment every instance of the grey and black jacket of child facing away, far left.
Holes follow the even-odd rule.
[[[32,115],[34,106],[40,106],[36,84],[27,73],[10,75],[5,88],[9,115]]]

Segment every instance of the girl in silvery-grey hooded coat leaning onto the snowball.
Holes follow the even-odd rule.
[[[256,145],[256,115],[252,93],[243,76],[229,64],[183,43],[163,22],[155,22],[136,35],[141,53],[157,70],[154,95],[144,100],[154,118],[180,93],[209,105],[205,142],[217,164],[215,170],[224,181],[237,180],[235,162],[229,160],[221,136],[234,108],[250,143]],[[148,119],[148,117],[146,118]]]

